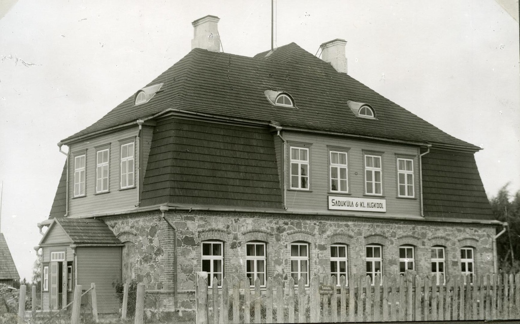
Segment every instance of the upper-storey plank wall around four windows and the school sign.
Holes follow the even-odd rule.
[[[287,208],[289,211],[327,211],[328,196],[345,196],[354,198],[373,198],[386,200],[386,213],[378,212],[346,212],[329,211],[330,213],[353,213],[357,215],[394,215],[419,216],[420,187],[419,187],[419,153],[418,148],[405,145],[381,144],[375,141],[352,140],[331,136],[319,136],[284,132],[287,140],[284,163],[287,167],[285,180],[287,181]],[[310,190],[290,190],[290,160],[288,152],[291,146],[308,144],[310,155]],[[307,146],[308,147],[308,146]],[[348,187],[350,195],[329,192],[329,148],[348,149]],[[383,170],[383,197],[364,195],[364,163],[363,151],[382,153]],[[397,155],[396,155],[397,154]],[[397,198],[397,156],[413,157],[414,170],[414,198]],[[357,173],[357,174],[356,174]]]

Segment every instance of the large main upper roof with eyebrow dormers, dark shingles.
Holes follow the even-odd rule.
[[[271,55],[244,57],[193,49],[148,85],[164,83],[149,102],[134,106],[134,94],[92,126],[63,141],[135,122],[168,108],[194,113],[275,121],[317,131],[478,147],[454,138],[329,63],[291,43]],[[267,89],[289,93],[297,109],[272,106]],[[371,105],[376,120],[358,118],[347,107],[354,100]]]

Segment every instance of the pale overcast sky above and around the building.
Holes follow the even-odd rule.
[[[270,49],[271,9],[269,0],[7,3],[9,10],[0,5],[0,230],[20,276],[30,279],[36,224],[49,214],[65,161],[57,142],[188,54],[193,20],[218,16],[226,53]],[[520,189],[518,23],[500,5],[276,1],[275,46],[295,42],[314,55],[335,38],[347,41],[355,79],[483,148],[475,158],[488,197],[508,182]]]

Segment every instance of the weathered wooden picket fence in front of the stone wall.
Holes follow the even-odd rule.
[[[198,324],[307,323],[365,321],[520,319],[520,274],[475,276],[419,275],[345,278],[336,287],[335,277],[259,280],[212,280],[197,275]],[[443,282],[442,278],[440,282]],[[219,285],[219,286],[218,286]]]

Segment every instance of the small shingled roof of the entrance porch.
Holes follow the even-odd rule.
[[[74,244],[121,244],[107,224],[97,219],[56,218]]]

